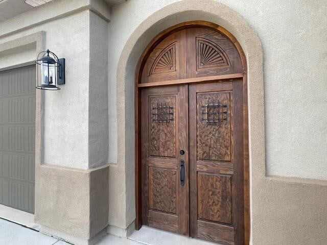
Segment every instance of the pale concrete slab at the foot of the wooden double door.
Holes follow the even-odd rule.
[[[134,231],[128,239],[146,245],[221,245],[148,226],[142,226],[138,231]]]

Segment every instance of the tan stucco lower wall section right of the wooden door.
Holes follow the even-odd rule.
[[[252,244],[326,244],[326,182],[285,177],[253,182]]]

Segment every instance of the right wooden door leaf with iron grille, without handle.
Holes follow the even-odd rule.
[[[189,87],[191,236],[244,244],[242,80]]]

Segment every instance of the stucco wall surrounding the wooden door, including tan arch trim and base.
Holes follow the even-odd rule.
[[[221,4],[225,2],[229,7]],[[318,58],[319,62],[312,68],[316,70],[318,66],[323,70],[325,46],[321,40],[325,40],[325,33],[323,25],[318,27],[317,23],[325,21],[326,4],[318,2],[283,2],[276,6],[276,3],[259,1],[131,0],[113,8],[109,23],[109,60],[112,61],[109,88],[116,97],[109,97],[109,104],[116,102],[116,112],[109,108],[109,115],[117,113],[119,123],[116,124],[115,118],[109,119],[109,127],[116,127],[118,136],[109,132],[109,145],[115,142],[118,145],[116,157],[113,148],[109,148],[110,225],[126,228],[135,217],[133,91],[137,60],[150,40],[165,28],[187,20],[207,20],[236,36],[248,61],[251,243],[324,244],[327,237],[323,220],[327,207],[323,179],[327,178],[327,168],[323,164],[326,141],[320,136],[326,133],[321,126],[327,118],[320,113],[325,114],[326,110],[322,106],[326,92],[322,81],[326,72],[308,75],[310,65],[306,62],[307,70],[301,68],[299,59],[303,53],[296,47],[308,43],[309,53],[316,55],[308,55],[306,60]],[[292,11],[295,13],[290,17]],[[316,19],[300,20],[308,11]],[[306,22],[303,28],[302,21]],[[310,29],[308,25],[317,26],[315,35],[319,38],[311,35],[310,30],[306,32],[306,28]],[[116,59],[118,63],[113,62]],[[303,80],[315,82],[315,86],[308,91]],[[116,90],[112,91],[113,88]],[[309,100],[307,96],[313,98],[310,103],[316,108],[310,113],[318,113],[318,121],[299,118],[298,114],[308,109],[303,106],[303,100]],[[313,130],[319,137],[304,136]],[[299,143],[298,139],[305,141]],[[315,142],[317,139],[319,143]],[[312,144],[316,146],[314,152],[320,154],[311,151]],[[266,177],[269,175],[290,178]]]

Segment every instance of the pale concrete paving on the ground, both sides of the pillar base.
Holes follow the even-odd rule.
[[[1,245],[71,245],[36,230],[0,218]],[[219,245],[149,227],[142,227],[128,238],[104,236],[96,245]]]

